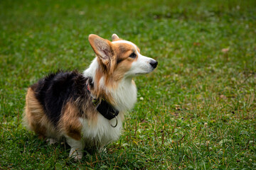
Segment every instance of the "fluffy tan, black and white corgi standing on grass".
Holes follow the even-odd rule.
[[[133,77],[152,72],[158,62],[137,45],[112,35],[112,42],[89,35],[96,57],[83,73],[58,71],[28,88],[23,121],[28,130],[53,143],[65,139],[70,157],[82,149],[102,149],[118,140],[124,113],[137,101]]]

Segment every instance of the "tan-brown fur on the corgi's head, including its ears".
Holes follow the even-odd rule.
[[[137,57],[129,57],[132,52],[139,52],[139,48],[126,43],[118,43],[120,39],[116,34],[112,35],[112,43],[109,40],[100,38],[98,35],[89,35],[89,42],[97,55],[99,68],[95,75],[95,82],[98,86],[96,91],[100,91],[100,81],[104,77],[104,85],[114,88],[124,77],[125,73],[132,67],[132,62],[137,61]],[[138,56],[138,54],[136,54]]]

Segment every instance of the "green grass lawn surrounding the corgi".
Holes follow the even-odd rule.
[[[0,1],[0,169],[256,169],[256,1]],[[95,33],[157,69],[107,154],[68,158],[21,125],[26,89],[82,72]]]

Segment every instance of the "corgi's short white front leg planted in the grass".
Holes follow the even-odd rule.
[[[70,145],[69,157],[73,157],[76,161],[82,159],[82,149],[84,149],[84,144],[81,140],[74,140],[71,137],[66,137],[68,145]]]

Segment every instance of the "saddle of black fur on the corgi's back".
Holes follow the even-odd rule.
[[[90,100],[87,79],[77,71],[58,71],[31,86],[53,125],[58,125],[65,103],[75,101],[78,97]]]

